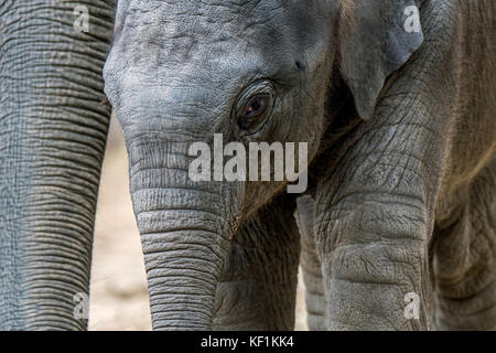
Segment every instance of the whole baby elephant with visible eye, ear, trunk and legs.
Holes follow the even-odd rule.
[[[493,0],[119,1],[153,328],[292,329],[300,248],[310,329],[496,328],[494,33]],[[256,142],[305,143],[303,197]]]

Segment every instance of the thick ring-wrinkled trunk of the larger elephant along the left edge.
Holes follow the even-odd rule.
[[[74,330],[87,324],[74,317],[74,296],[88,292],[110,113],[100,104],[101,68],[114,4],[85,1],[80,12],[75,11],[78,4],[0,3],[0,328],[4,330]]]

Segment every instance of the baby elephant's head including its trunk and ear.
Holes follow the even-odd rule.
[[[212,328],[229,238],[288,184],[192,180],[191,146],[213,146],[215,133],[306,142],[315,164],[339,97],[354,97],[349,121],[371,118],[386,78],[422,43],[420,29],[402,26],[414,6],[119,1],[104,76],[128,148],[154,329]]]

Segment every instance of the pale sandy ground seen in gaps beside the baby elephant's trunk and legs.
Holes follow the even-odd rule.
[[[151,330],[147,279],[128,188],[128,159],[112,117],[95,226],[88,329]],[[306,330],[301,278],[296,330]]]

